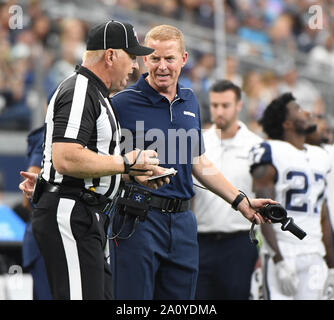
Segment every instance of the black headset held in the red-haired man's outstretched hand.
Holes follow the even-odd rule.
[[[194,183],[194,185],[196,187],[201,188],[201,189],[208,190],[208,189],[206,189],[206,188],[204,188],[200,185],[197,185],[195,183]],[[247,195],[243,191],[239,190],[239,192],[242,193],[245,196],[245,198],[248,201],[249,206],[252,209],[254,209],[251,202],[249,201]],[[305,238],[306,232],[303,231],[301,228],[299,228],[293,222],[293,218],[288,217],[288,214],[287,214],[286,210],[279,203],[277,203],[277,204],[266,204],[265,206],[263,206],[259,210],[255,210],[255,211],[258,212],[263,218],[269,219],[272,223],[281,223],[282,224],[281,229],[283,231],[290,231],[294,236],[296,236],[300,240]],[[253,220],[252,226],[249,230],[249,238],[255,245],[257,245],[258,240],[256,239],[256,234],[255,234],[255,230],[254,230],[255,225],[256,225],[256,221]]]

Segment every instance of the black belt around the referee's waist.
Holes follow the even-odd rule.
[[[107,198],[104,195],[100,195],[98,193],[95,193],[93,191],[84,189],[84,188],[75,188],[75,187],[68,187],[64,185],[56,185],[49,183],[47,181],[44,182],[43,185],[43,192],[52,192],[52,193],[59,193],[61,194],[68,194],[68,195],[74,195],[79,197],[82,201],[84,201],[86,204],[96,207],[103,207],[106,206],[107,203],[110,202],[110,199]]]

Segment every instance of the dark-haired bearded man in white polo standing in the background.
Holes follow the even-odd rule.
[[[238,86],[228,80],[214,83],[210,88],[213,125],[203,138],[208,159],[239,190],[252,197],[248,154],[262,139],[238,121],[241,109]],[[193,212],[199,242],[196,299],[248,299],[258,257],[249,239],[249,221],[214,193],[201,188],[196,190]]]

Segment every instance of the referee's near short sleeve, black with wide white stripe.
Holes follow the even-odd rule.
[[[82,100],[73,99],[73,90],[58,94],[53,116],[52,142],[70,142],[87,146],[99,116],[97,95],[86,91]]]

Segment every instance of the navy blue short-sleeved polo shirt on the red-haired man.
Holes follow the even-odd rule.
[[[190,199],[194,195],[193,159],[204,152],[197,99],[191,89],[178,84],[170,103],[145,81],[147,75],[142,74],[137,83],[111,98],[122,128],[121,149],[156,150],[160,165],[178,173],[153,194]]]

